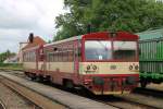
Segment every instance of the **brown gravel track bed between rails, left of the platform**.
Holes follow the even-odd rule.
[[[46,97],[39,95],[38,93],[25,87],[12,80],[8,78],[0,78],[0,82],[5,85],[7,87],[11,88],[13,92],[18,93],[21,96],[25,97],[29,102],[35,104],[35,107],[38,109],[52,109],[54,108],[63,108],[64,106],[55,104]],[[37,109],[37,108],[36,108]]]

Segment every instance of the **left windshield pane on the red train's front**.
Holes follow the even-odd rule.
[[[112,47],[109,40],[86,40],[86,60],[109,60],[112,59]]]

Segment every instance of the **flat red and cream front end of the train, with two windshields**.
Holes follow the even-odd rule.
[[[125,32],[83,36],[79,74],[96,95],[128,94],[139,82],[138,36]]]

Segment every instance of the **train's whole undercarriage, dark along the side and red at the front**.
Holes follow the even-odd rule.
[[[138,86],[139,82],[139,75],[80,75],[78,78],[62,77],[62,82],[55,83],[51,75],[43,75],[36,72],[25,72],[25,74],[32,80],[52,82],[63,85],[66,88],[85,87],[95,95],[129,94]]]

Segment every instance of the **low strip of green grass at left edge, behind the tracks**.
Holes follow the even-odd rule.
[[[0,63],[0,70],[23,70],[21,63]]]

